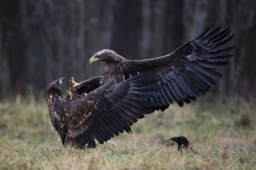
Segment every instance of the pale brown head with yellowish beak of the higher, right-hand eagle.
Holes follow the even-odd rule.
[[[117,53],[115,53],[113,50],[104,49],[100,52],[97,52],[93,55],[92,58],[89,59],[89,63],[92,64],[96,61],[104,61],[106,63],[115,63],[118,62],[122,58]]]

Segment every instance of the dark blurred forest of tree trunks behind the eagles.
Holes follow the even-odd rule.
[[[163,56],[223,24],[234,58],[214,94],[256,94],[255,0],[0,0],[0,99],[38,96],[53,79],[102,75],[98,50],[128,59]]]

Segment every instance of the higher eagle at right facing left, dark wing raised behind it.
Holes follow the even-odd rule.
[[[94,54],[89,63],[106,62],[104,76],[100,79],[101,85],[112,79],[119,83],[134,75],[151,72],[153,80],[160,78],[152,86],[163,86],[159,92],[166,94],[160,98],[162,107],[154,109],[164,111],[175,101],[183,106],[183,101],[190,103],[191,99],[196,100],[196,97],[205,95],[210,88],[216,86],[216,79],[222,75],[213,69],[225,66],[233,57],[234,46],[222,47],[233,37],[230,29],[221,31],[221,26],[214,30],[213,27],[166,56],[129,60],[113,50],[104,49]],[[156,100],[156,97],[149,99],[152,102]]]

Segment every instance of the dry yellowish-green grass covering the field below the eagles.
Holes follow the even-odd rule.
[[[0,104],[0,169],[256,169],[253,102],[171,105],[139,120],[94,149],[61,146],[44,100]],[[184,135],[200,153],[177,153],[169,139]]]

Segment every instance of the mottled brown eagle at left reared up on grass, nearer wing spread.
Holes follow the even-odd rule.
[[[144,114],[152,113],[150,107],[158,105],[147,100],[161,95],[157,91],[162,87],[151,87],[158,81],[151,76],[139,74],[120,83],[109,80],[76,100],[64,99],[60,89],[64,78],[48,84],[45,91],[49,117],[62,144],[94,148],[95,139],[102,144],[124,130],[131,133],[130,126]],[[97,82],[97,78],[87,82],[94,80]]]

